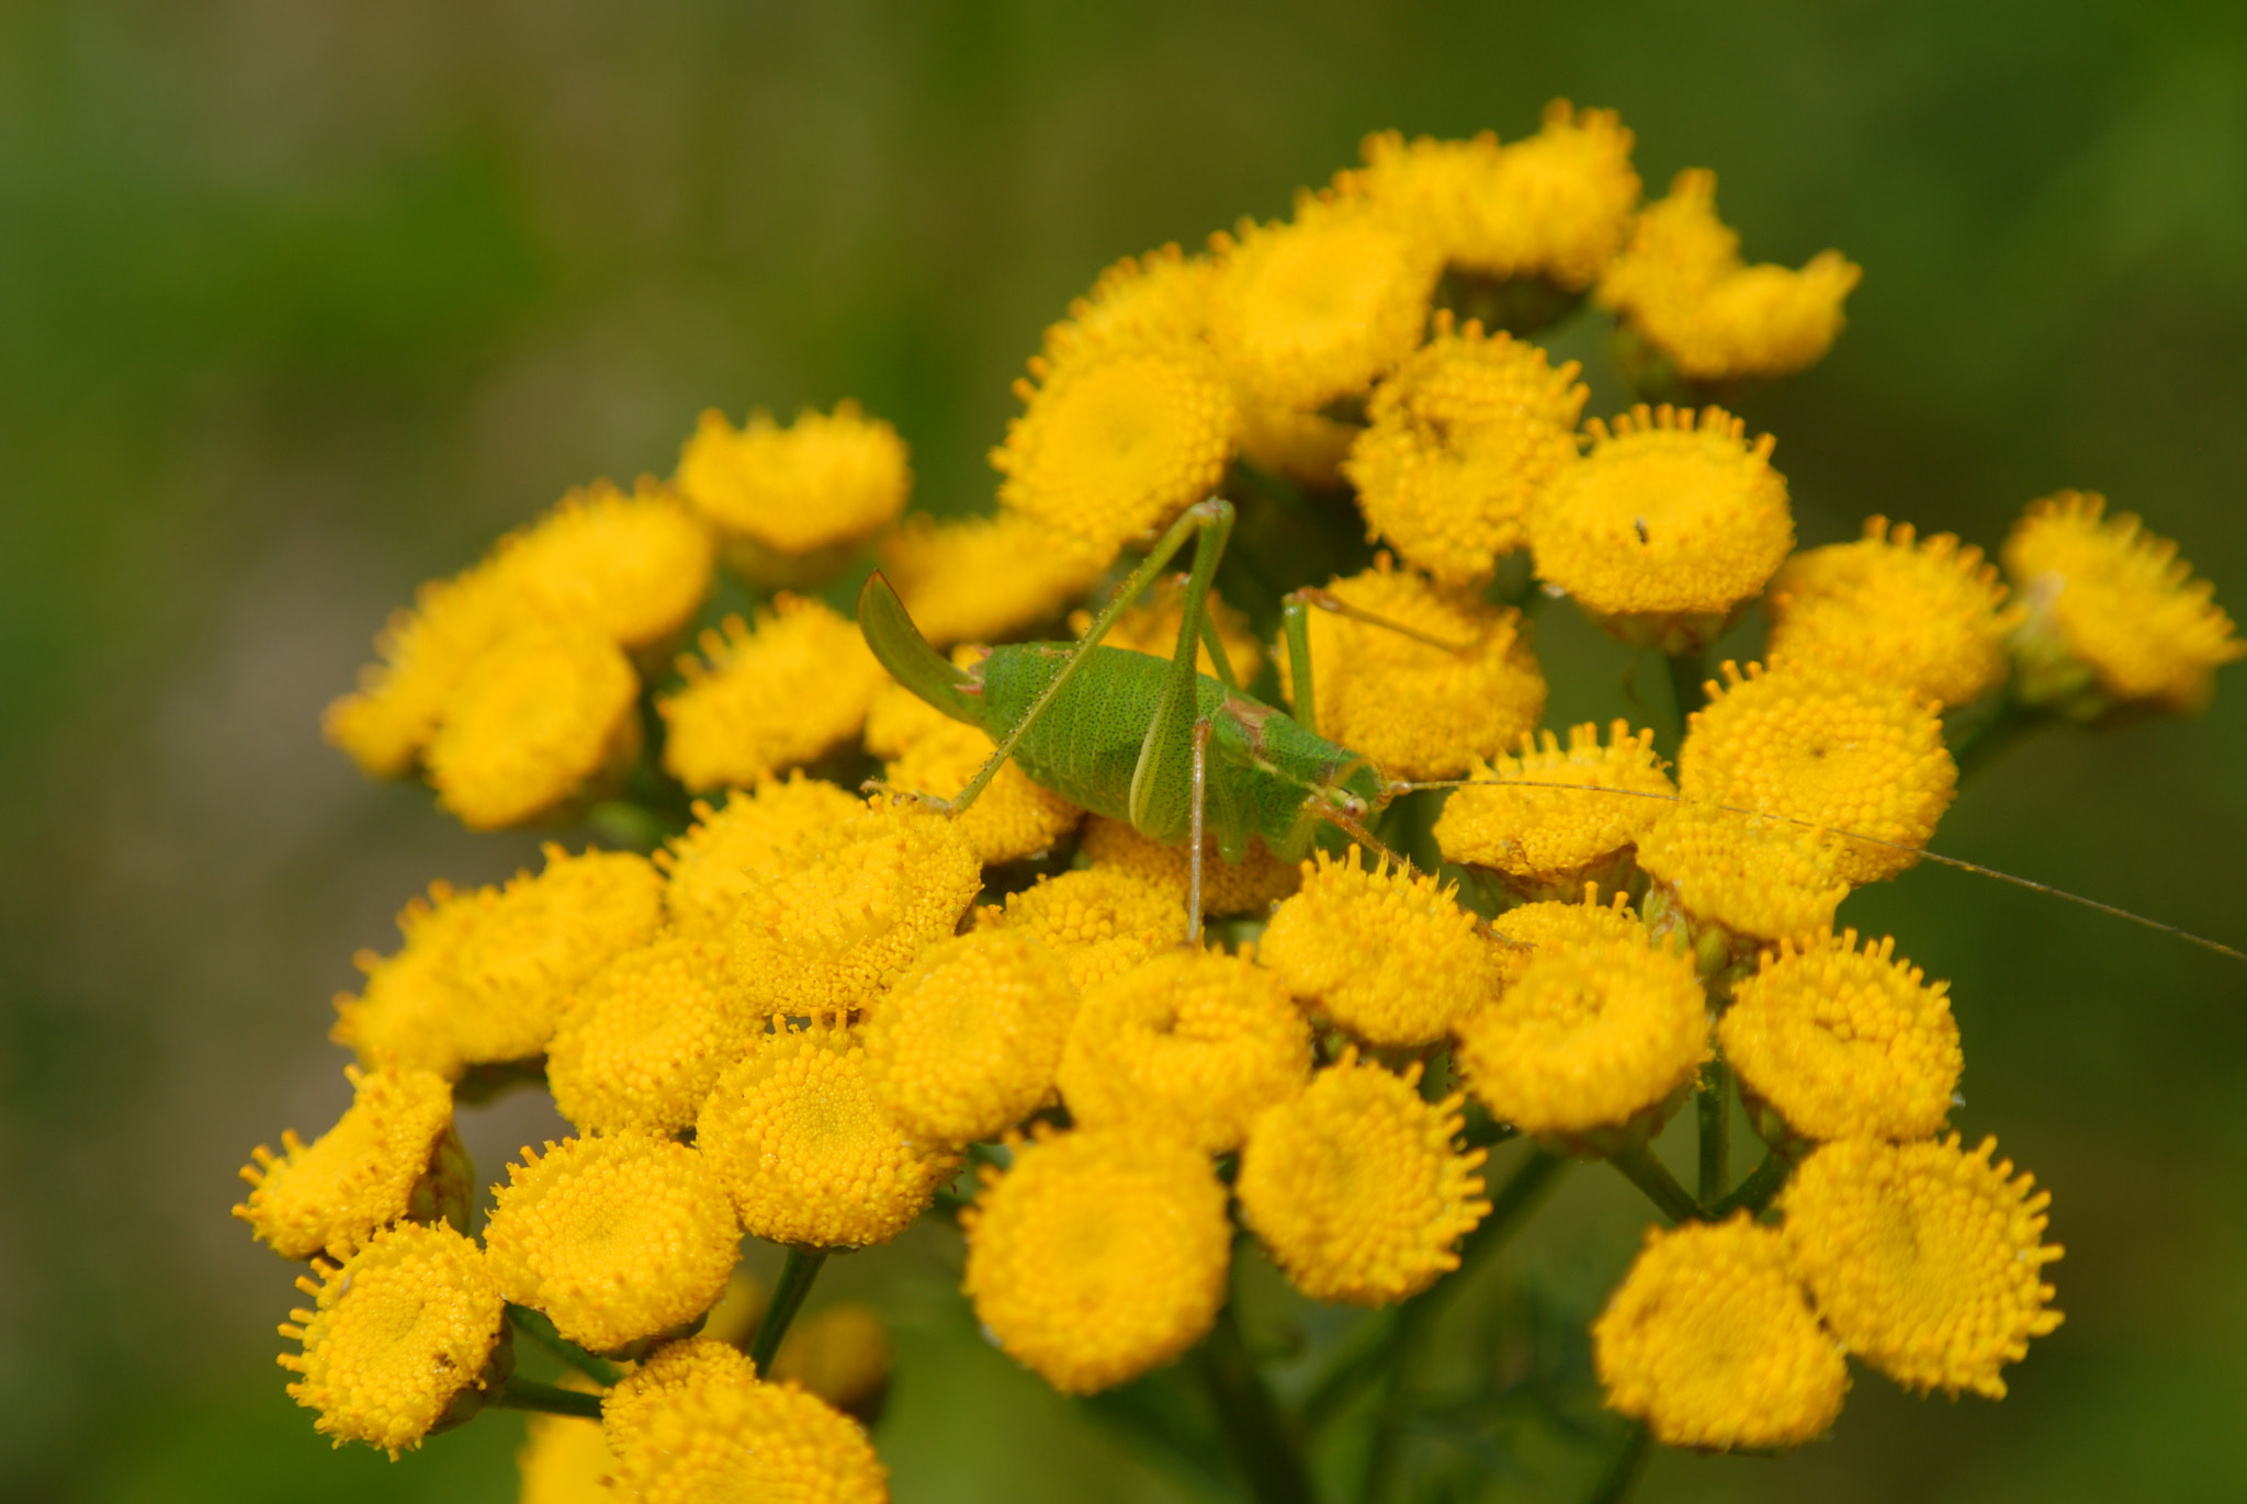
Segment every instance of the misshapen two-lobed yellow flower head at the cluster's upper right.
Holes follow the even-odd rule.
[[[1831,250],[1800,272],[1741,265],[1739,234],[1717,218],[1717,173],[1696,166],[1638,216],[1629,245],[1600,277],[1600,301],[1685,378],[1773,378],[1825,357],[1840,333],[1840,303],[1863,274]]]

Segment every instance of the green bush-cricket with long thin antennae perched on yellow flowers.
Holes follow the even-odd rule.
[[[1364,753],[1317,735],[1310,638],[1303,629],[1306,611],[1314,605],[1348,611],[1348,607],[1326,598],[1326,591],[1297,591],[1285,602],[1294,715],[1240,690],[1225,659],[1225,647],[1218,643],[1216,625],[1204,609],[1231,526],[1234,508],[1222,497],[1186,508],[1081,641],[993,647],[971,670],[953,665],[928,645],[912,625],[906,602],[881,573],[867,578],[858,594],[858,625],[867,647],[890,670],[890,677],[953,719],[977,726],[998,744],[991,760],[957,796],[950,800],[924,796],[924,800],[941,809],[964,809],[998,776],[1007,758],[1013,758],[1031,782],[1074,805],[1130,821],[1132,830],[1150,841],[1189,843],[1189,944],[1200,942],[1202,931],[1204,834],[1216,834],[1225,861],[1240,861],[1249,836],[1263,836],[1281,861],[1299,861],[1321,825],[1332,825],[1366,850],[1386,854],[1386,848],[1366,827],[1373,814],[1398,794],[1467,782],[1391,782]],[[1195,540],[1193,571],[1186,578],[1177,650],[1168,663],[1144,652],[1103,647],[1101,638],[1115,620],[1162,576],[1189,537]],[[1222,679],[1198,672],[1198,643],[1209,645],[1211,663]],[[1517,789],[1548,787],[1573,794],[1663,798],[1634,789],[1508,782]],[[1872,845],[1896,845],[1878,836],[1791,816],[1732,809],[1730,805],[1726,809]],[[1957,857],[1919,848],[1899,850],[1914,850],[1926,861],[2047,893],[2247,962],[2247,953],[2234,946],[2128,908]]]

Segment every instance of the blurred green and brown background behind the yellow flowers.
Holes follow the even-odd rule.
[[[1831,360],[1748,405],[1807,544],[1995,546],[2074,486],[2247,605],[2236,4],[0,7],[0,1493],[510,1497],[519,1416],[330,1455],[272,1362],[290,1270],[225,1214],[344,1104],[351,953],[533,850],[319,742],[418,580],[667,472],[708,405],[861,398],[924,504],[982,506],[1101,265],[1555,94],[1618,108],[1649,189],[1719,169],[1750,259],[1865,265]],[[1589,634],[1546,650],[1557,719],[1627,710]],[[2231,670],[2202,719],[2018,751],[1937,845],[2247,942],[2243,733]],[[2054,1187],[2067,1324],[2004,1403],[1861,1374],[1829,1441],[1640,1497],[2247,1497],[2247,967],[1937,870],[1843,917],[1955,982],[1957,1122]],[[546,1131],[467,1124],[488,1174]],[[1595,1306],[1643,1221],[1582,1169],[1510,1270]],[[834,1279],[897,1317],[897,1497],[1182,1497],[977,1342],[950,1257]]]

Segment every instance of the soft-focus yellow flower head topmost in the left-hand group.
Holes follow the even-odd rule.
[[[742,429],[706,411],[679,450],[679,490],[726,533],[728,562],[757,582],[793,585],[804,564],[834,562],[894,522],[912,472],[897,429],[845,400],[789,427],[762,409]]]

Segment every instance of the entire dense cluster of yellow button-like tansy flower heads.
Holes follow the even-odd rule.
[[[2002,1394],[2058,1324],[2045,1196],[1944,1138],[1946,985],[1836,908],[1919,859],[1955,708],[2195,708],[2243,650],[2087,497],[2029,510],[2011,602],[1975,549],[1885,519],[1798,553],[1773,438],[1705,398],[1816,362],[1858,270],[1744,265],[1705,171],[1638,200],[1604,110],[1512,144],[1375,135],[1285,223],[1103,272],[1016,387],[991,517],[901,517],[903,443],[849,402],[706,414],[674,481],[573,495],[425,587],[330,740],[470,825],[591,809],[652,857],[551,845],[506,888],[438,884],[360,958],[355,1104],[261,1147],[236,1207],[315,1261],[283,1362],[319,1428],[395,1455],[499,1401],[553,1412],[537,1497],[881,1500],[854,1419],[879,1320],[789,1329],[829,1250],[950,1218],[977,1322],[1067,1394],[1204,1338],[1211,1383],[1254,1383],[1222,1326],[1247,1239],[1308,1299],[1416,1299],[1505,1232],[1485,1171],[1512,1135],[1517,1174],[1609,1158],[1681,1223],[1593,1331],[1607,1403],[1656,1439],[1807,1441],[1845,1351]],[[1586,299],[1645,396],[1692,400],[1584,420],[1530,335]],[[1189,785],[1128,688],[1159,670],[1061,638],[1103,620],[1126,549],[1234,513],[1247,594],[1290,594],[1207,598]],[[1319,517],[1346,522],[1301,578],[1283,542]],[[867,558],[955,650],[924,679],[840,609]],[[746,618],[703,609],[717,564]],[[1667,764],[1627,722],[1541,731],[1555,598],[1672,654]],[[1757,600],[1768,665],[1723,663],[1703,704]],[[1106,645],[1171,659],[1202,605],[1162,580]],[[1016,726],[975,717],[1061,663],[1083,674],[1036,755],[991,769]],[[1139,818],[1189,787],[1198,852]],[[1735,1072],[1771,1160],[1735,1187],[1717,1156],[1690,1194],[1649,1138],[1694,1095],[1721,1124]],[[474,1227],[452,1115],[521,1081],[575,1135],[524,1149]],[[791,1250],[762,1315],[744,1234]],[[510,1378],[517,1331],[580,1387]],[[566,1419],[595,1407],[598,1432]]]

